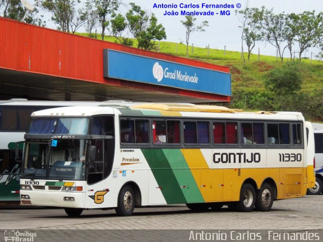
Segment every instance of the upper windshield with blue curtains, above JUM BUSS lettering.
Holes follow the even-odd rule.
[[[33,118],[29,134],[87,134],[89,118]]]

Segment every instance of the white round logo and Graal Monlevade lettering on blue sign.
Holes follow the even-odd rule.
[[[169,68],[165,68],[165,71],[163,70],[163,67],[159,65],[158,62],[156,62],[152,67],[152,74],[155,79],[157,79],[157,82],[160,82],[163,80],[163,77],[173,80],[178,80],[182,82],[190,82],[193,84],[198,83],[198,77],[196,76],[196,73],[193,75],[188,75],[187,72],[182,72],[181,70],[174,70],[172,72],[169,71]]]

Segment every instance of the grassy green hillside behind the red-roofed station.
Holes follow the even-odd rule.
[[[80,35],[87,36],[87,34]],[[100,35],[97,38],[100,39]],[[105,36],[104,40],[115,42],[115,38],[110,36]],[[158,47],[162,53],[186,57],[185,44],[160,41]],[[302,59],[299,65],[303,78],[302,89],[297,94],[286,98],[274,96],[273,93],[268,92],[265,89],[264,80],[273,69],[290,62],[289,58],[285,58],[282,63],[276,60],[276,56],[260,55],[260,61],[258,61],[258,55],[251,54],[250,61],[243,64],[241,52],[238,51],[226,50],[224,53],[224,50],[220,49],[208,50],[194,47],[192,54],[191,48],[189,46],[188,58],[230,68],[232,98],[231,103],[225,105],[254,110],[301,111],[306,119],[323,122],[323,62]],[[297,62],[297,59],[293,61]]]

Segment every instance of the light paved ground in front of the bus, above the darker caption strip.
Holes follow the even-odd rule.
[[[275,201],[270,212],[192,212],[185,205],[136,208],[131,217],[115,210],[84,211],[70,218],[63,209],[0,208],[0,229],[323,229],[323,196]]]

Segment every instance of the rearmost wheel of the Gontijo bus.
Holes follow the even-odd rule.
[[[274,203],[274,192],[271,185],[264,183],[256,195],[255,207],[258,211],[268,212]]]

